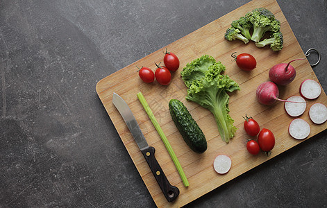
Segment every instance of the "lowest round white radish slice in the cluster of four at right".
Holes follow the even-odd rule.
[[[303,119],[294,119],[290,123],[288,132],[294,139],[305,139],[310,135],[310,125]]]

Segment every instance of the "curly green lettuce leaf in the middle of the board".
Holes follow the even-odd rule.
[[[209,55],[203,55],[187,64],[181,76],[188,87],[186,99],[206,107],[214,114],[221,139],[228,143],[234,137],[237,128],[228,114],[227,92],[233,92],[240,87],[229,76],[221,74],[225,69],[221,62],[216,62]],[[195,76],[192,76],[193,74]]]

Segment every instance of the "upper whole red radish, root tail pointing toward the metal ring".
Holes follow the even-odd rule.
[[[290,65],[291,62],[294,62],[296,60],[304,60],[304,58],[294,59],[290,62],[276,64],[274,67],[271,67],[269,70],[269,78],[271,81],[276,83],[277,85],[288,85],[292,83],[296,76],[296,71],[292,65]]]

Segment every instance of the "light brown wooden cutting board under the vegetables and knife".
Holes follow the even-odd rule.
[[[229,42],[224,39],[224,33],[230,26],[231,21],[244,16],[246,12],[254,8],[260,7],[271,10],[271,12],[276,15],[276,19],[281,22],[280,31],[282,31],[284,35],[284,49],[279,53],[274,53],[269,47],[258,49],[254,42],[244,44],[240,40]],[[136,72],[137,69],[135,66],[150,67],[153,70],[156,69],[154,62],[163,62],[162,49],[168,49],[168,51],[178,56],[181,62],[180,68],[172,74],[171,84],[168,86],[159,85],[156,81],[151,84],[143,83]],[[112,119],[112,123],[117,129],[121,141],[123,141],[129,155],[131,155],[137,171],[139,171],[158,207],[181,207],[186,205],[192,200],[221,186],[221,184],[232,180],[238,175],[249,171],[251,168],[266,162],[268,159],[302,142],[293,139],[288,134],[287,128],[293,118],[287,116],[283,103],[276,103],[268,107],[260,105],[255,98],[255,89],[260,83],[269,80],[268,71],[274,64],[288,62],[295,58],[305,58],[299,42],[297,42],[296,37],[276,1],[251,1],[162,49],[147,55],[116,73],[112,73],[110,76],[103,78],[97,83],[97,93],[104,107],[106,107],[106,111],[110,119]],[[230,54],[235,51],[237,51],[238,54],[251,53],[258,63],[256,69],[251,72],[240,70],[230,57]],[[181,70],[188,62],[205,54],[211,55],[217,61],[221,61],[226,66],[225,73],[235,80],[241,88],[240,91],[230,94],[230,116],[235,120],[234,125],[238,130],[229,144],[221,140],[212,114],[196,103],[185,100],[187,88],[183,80],[181,80]],[[308,60],[292,62],[292,65],[296,68],[296,78],[287,87],[279,87],[280,98],[299,95],[299,85],[301,81],[307,78],[317,80]],[[113,92],[116,92],[124,98],[129,107],[131,107],[135,119],[139,123],[149,146],[156,148],[156,157],[167,175],[169,182],[180,189],[181,194],[174,202],[167,202],[162,195],[149,166],[146,164],[126,124],[115,106],[112,105]],[[153,127],[149,117],[137,99],[136,94],[138,92],[144,94],[153,114],[156,116],[162,130],[169,139],[179,162],[181,162],[187,179],[190,182],[190,187],[183,186],[181,177],[178,175],[165,145],[162,143],[156,129]],[[183,141],[176,126],[173,121],[171,121],[171,116],[169,114],[168,103],[172,98],[179,99],[185,104],[203,130],[208,141],[208,150],[206,150],[205,153],[197,154],[192,152]],[[305,113],[299,116],[310,124],[311,132],[307,139],[326,130],[327,127],[327,122],[322,125],[315,125],[310,121],[308,110],[313,103],[324,103],[324,105],[327,105],[327,98],[324,90],[322,90],[319,98],[314,101],[308,101]],[[253,156],[247,152],[246,138],[249,137],[246,136],[244,132],[244,119],[242,118],[245,114],[253,116],[260,124],[260,129],[268,128],[274,132],[276,146],[269,157],[264,153]],[[232,168],[225,175],[217,174],[212,167],[212,162],[219,154],[229,155],[232,159]]]

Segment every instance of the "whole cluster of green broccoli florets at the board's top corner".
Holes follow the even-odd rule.
[[[253,31],[252,35],[251,31]],[[270,33],[270,37],[262,40],[267,32]],[[280,21],[267,8],[255,8],[247,12],[245,17],[232,21],[225,38],[229,41],[242,40],[244,44],[252,40],[258,48],[270,46],[273,51],[283,49],[284,43],[283,33],[280,32]]]

